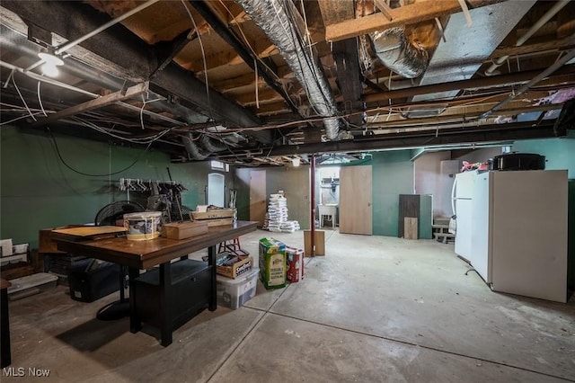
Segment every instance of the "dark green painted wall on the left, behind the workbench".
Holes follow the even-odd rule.
[[[208,173],[212,172],[208,163],[171,164],[163,153],[81,138],[55,138],[66,164],[84,174],[101,175],[78,174],[67,168],[48,134],[22,133],[3,126],[0,237],[13,238],[14,244],[30,243],[35,248],[42,228],[93,223],[103,206],[127,199],[126,191],[118,190],[121,177],[169,180],[170,168],[173,180],[187,189],[181,193],[183,205],[195,209],[205,203]],[[125,168],[128,169],[119,174],[107,175]],[[226,174],[227,188],[233,185],[231,174]],[[130,200],[142,201],[134,192]]]

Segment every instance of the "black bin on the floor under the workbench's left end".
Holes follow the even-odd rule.
[[[96,263],[86,260],[68,269],[70,298],[93,302],[119,290],[120,266],[115,263]]]

